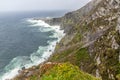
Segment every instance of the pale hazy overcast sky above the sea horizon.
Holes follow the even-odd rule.
[[[0,0],[0,12],[75,10],[90,0]]]

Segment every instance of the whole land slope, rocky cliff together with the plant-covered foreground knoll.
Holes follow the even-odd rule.
[[[27,80],[100,80],[87,73],[97,74],[103,80],[120,80],[118,9],[113,8],[112,1],[116,3],[101,0],[90,11],[88,7],[92,5],[89,4],[83,7],[85,10],[62,17],[66,36],[48,60],[56,64],[45,64]]]

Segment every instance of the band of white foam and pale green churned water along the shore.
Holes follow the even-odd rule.
[[[31,27],[39,27],[41,32],[53,31],[54,34],[50,37],[57,38],[54,41],[48,41],[48,46],[39,46],[36,52],[33,52],[30,56],[18,56],[14,58],[6,67],[7,71],[2,75],[0,80],[11,79],[18,75],[18,70],[21,70],[22,67],[30,68],[34,65],[38,65],[44,62],[50,55],[54,52],[56,43],[59,42],[64,34],[63,30],[60,30],[60,26],[50,26],[42,20],[28,19],[28,23],[31,24]]]

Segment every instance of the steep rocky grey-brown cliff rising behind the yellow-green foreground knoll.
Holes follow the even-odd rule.
[[[120,80],[120,0],[92,0],[77,11],[45,21],[61,25],[66,33],[49,62],[69,62],[102,80]]]

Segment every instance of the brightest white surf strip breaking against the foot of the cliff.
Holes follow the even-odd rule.
[[[46,19],[45,19],[46,20]],[[60,42],[60,40],[65,36],[65,33],[64,33],[64,30],[61,30],[61,26],[59,25],[49,25],[49,23],[46,23],[46,21],[44,21],[43,19],[29,19],[27,20],[28,22],[32,23],[31,26],[44,26],[44,27],[49,27],[51,28],[51,30],[55,31],[55,34],[53,36],[50,36],[50,37],[55,37],[57,38],[57,40],[54,40],[52,42],[49,42],[48,41],[48,44],[49,46],[47,46],[47,51],[44,52],[44,54],[42,55],[41,59],[36,59],[36,57],[32,58],[32,55],[30,56],[31,59],[33,59],[32,61],[34,61],[33,63],[31,64],[26,64],[24,67],[22,68],[16,68],[8,73],[5,73],[1,80],[12,80],[14,77],[16,77],[17,75],[20,75],[21,72],[24,72],[25,70],[29,70],[30,68],[34,67],[34,66],[39,66],[41,64],[43,64],[44,62],[46,62],[48,60],[48,58],[54,53],[54,50],[55,50],[55,47],[56,47],[56,44],[58,42]],[[40,48],[38,48],[37,50],[37,53],[39,53],[40,51]],[[38,57],[37,57],[38,58]],[[36,60],[34,60],[36,59]]]

